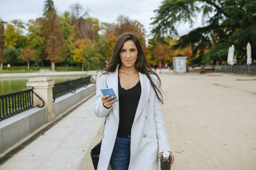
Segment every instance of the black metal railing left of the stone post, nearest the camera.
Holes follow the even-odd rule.
[[[10,94],[0,95],[0,121],[33,107],[33,89],[27,89]],[[35,94],[40,100],[37,94]],[[43,100],[42,100],[43,101]],[[44,101],[43,101],[44,106]],[[43,107],[39,106],[38,107]]]

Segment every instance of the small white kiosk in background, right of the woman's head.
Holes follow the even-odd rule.
[[[172,57],[173,60],[173,70],[176,73],[184,73],[187,70],[187,57],[181,54],[178,54],[175,57]]]

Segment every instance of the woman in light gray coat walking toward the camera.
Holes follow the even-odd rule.
[[[157,169],[157,158],[169,151],[159,90],[161,81],[151,70],[138,38],[118,37],[111,60],[98,74],[95,115],[106,117],[98,169]],[[159,82],[159,83],[158,83]],[[117,98],[100,89],[113,88]],[[102,97],[103,96],[103,97]]]

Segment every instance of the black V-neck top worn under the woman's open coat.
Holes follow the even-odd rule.
[[[131,136],[132,124],[141,94],[140,81],[131,89],[121,87],[118,76],[119,126],[117,137]]]

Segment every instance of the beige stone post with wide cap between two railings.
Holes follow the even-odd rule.
[[[44,100],[44,106],[47,107],[47,122],[55,119],[55,113],[53,112],[53,86],[54,81],[51,77],[29,78],[27,82],[27,87],[33,87],[34,92]],[[42,106],[42,101],[35,94],[33,94],[33,101],[34,106]]]

